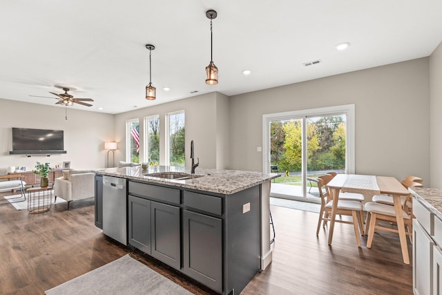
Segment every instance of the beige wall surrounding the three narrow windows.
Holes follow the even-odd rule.
[[[160,99],[160,97],[157,97],[157,99]],[[217,168],[227,166],[224,161],[228,159],[217,156],[220,154],[217,152],[218,142],[221,142],[221,146],[226,146],[226,141],[228,141],[222,138],[226,136],[227,132],[223,130],[218,132],[217,123],[218,117],[228,116],[228,114],[224,114],[228,111],[227,106],[225,106],[226,101],[227,97],[225,95],[208,93],[115,115],[115,141],[119,142],[118,151],[115,153],[115,162],[126,160],[126,146],[124,144],[126,120],[136,118],[140,122],[140,161],[147,162],[147,159],[143,160],[144,153],[142,152],[144,149],[142,144],[144,139],[144,117],[160,115],[160,164],[164,165],[166,113],[184,110],[186,120],[186,166],[191,166],[191,140],[195,144],[195,162],[197,161],[196,158],[200,158],[200,167]],[[217,106],[221,106],[218,111]],[[224,120],[222,122],[225,124],[225,119],[221,120]]]

